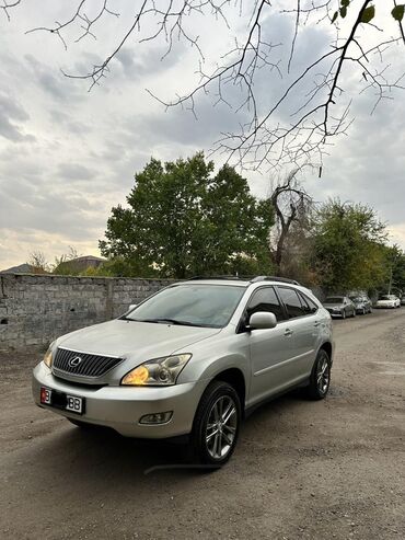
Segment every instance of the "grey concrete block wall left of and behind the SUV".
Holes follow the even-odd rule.
[[[0,274],[0,352],[45,348],[61,334],[118,317],[171,283]]]

